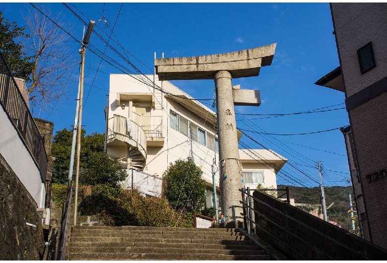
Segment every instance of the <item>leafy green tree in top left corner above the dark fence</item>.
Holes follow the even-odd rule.
[[[24,46],[17,41],[20,38],[30,37],[30,35],[24,33],[25,29],[25,26],[17,26],[16,22],[9,22],[0,12],[0,51],[12,75],[30,82],[34,61],[32,56],[26,55]]]

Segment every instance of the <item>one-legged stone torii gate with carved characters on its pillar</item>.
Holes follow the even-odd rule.
[[[233,87],[232,78],[258,76],[261,66],[271,65],[275,47],[274,43],[225,54],[155,59],[154,63],[159,80],[215,80],[222,214],[232,221],[243,221],[239,192],[242,167],[234,105],[260,105],[258,90]]]

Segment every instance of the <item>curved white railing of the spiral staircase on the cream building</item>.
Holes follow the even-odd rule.
[[[114,115],[109,119],[108,139],[113,138],[114,134],[118,133],[134,140],[144,151],[146,151],[146,134],[144,130],[129,118],[121,115]]]

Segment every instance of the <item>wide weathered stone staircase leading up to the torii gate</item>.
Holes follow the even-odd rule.
[[[238,228],[74,226],[69,260],[272,260]]]

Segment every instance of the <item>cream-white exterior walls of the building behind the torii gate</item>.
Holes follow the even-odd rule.
[[[148,75],[148,78],[153,80],[153,75]],[[164,90],[178,95],[184,95],[189,97],[188,94],[184,93],[174,85],[172,85],[168,81],[158,81],[156,76],[156,84],[158,86],[162,86]],[[129,101],[121,101],[121,103],[126,104],[126,109],[122,110],[121,107],[117,106],[117,93],[148,93],[153,94],[153,87],[147,86],[143,83],[138,83],[134,78],[129,75],[124,74],[111,74],[110,77],[110,93],[109,93],[109,119],[113,118],[114,114],[122,115],[124,117],[129,117]],[[178,159],[186,159],[187,157],[191,157],[194,160],[194,163],[197,166],[201,166],[203,171],[203,179],[205,180],[208,186],[212,187],[212,160],[216,158],[216,165],[219,166],[218,153],[215,153],[213,150],[208,148],[207,146],[190,139],[188,136],[179,132],[172,127],[170,127],[170,118],[169,114],[172,110],[178,115],[184,117],[189,122],[194,123],[201,130],[210,133],[215,136],[214,130],[208,125],[203,125],[204,120],[197,118],[191,111],[187,110],[177,102],[172,99],[168,99],[164,97],[164,94],[161,96],[157,96],[157,92],[155,92],[155,106],[151,107],[151,116],[162,116],[162,131],[164,137],[164,146],[163,147],[150,147],[147,146],[146,154],[146,166],[144,168],[144,172],[150,175],[155,175],[158,177],[162,177],[162,174],[165,170],[167,170],[170,163],[174,163]],[[158,107],[162,102],[163,109]],[[133,102],[138,103],[139,106],[151,106],[151,102]],[[208,112],[208,119],[205,120],[213,121],[213,115],[215,114],[212,110],[203,106],[203,111]],[[132,109],[135,112],[135,106]],[[126,151],[123,148],[118,149],[118,147],[109,146],[108,144],[108,153],[118,156],[120,158],[126,157]],[[250,158],[252,159],[252,158]],[[278,161],[278,160],[277,160]],[[270,167],[267,168],[258,162],[254,163],[252,160],[248,161],[249,163],[244,163],[242,160],[243,170],[248,171],[264,171],[265,183],[264,187],[276,188],[276,174],[274,169]],[[285,162],[283,162],[284,164]],[[282,165],[283,165],[282,164]],[[281,167],[282,167],[281,165]],[[216,172],[215,175],[215,184],[219,189],[219,171]],[[242,186],[242,180],[241,180]],[[257,185],[247,185],[251,189],[256,189]],[[246,186],[246,187],[247,187]],[[211,188],[212,189],[212,188]]]

